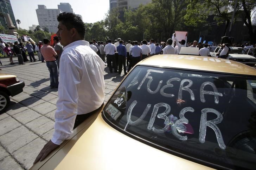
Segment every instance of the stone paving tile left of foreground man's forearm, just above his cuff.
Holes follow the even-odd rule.
[[[54,127],[54,121],[45,116],[41,116],[25,125],[41,136]]]

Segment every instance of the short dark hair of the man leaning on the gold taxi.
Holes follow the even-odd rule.
[[[57,20],[58,22],[62,22],[62,24],[65,25],[68,30],[70,30],[71,28],[75,28],[80,38],[84,39],[85,27],[84,22],[82,21],[80,16],[69,12],[63,12],[57,16]]]

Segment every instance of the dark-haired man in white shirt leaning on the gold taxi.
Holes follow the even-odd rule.
[[[73,13],[63,12],[57,20],[56,34],[64,51],[60,58],[55,130],[34,163],[42,161],[68,139],[73,128],[100,110],[104,101],[104,62],[89,47],[89,43],[83,41],[85,27],[82,19]]]

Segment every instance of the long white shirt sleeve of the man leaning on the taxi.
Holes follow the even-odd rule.
[[[82,77],[82,66],[76,56],[64,54],[60,58],[59,87],[55,130],[51,141],[60,145],[73,133],[77,115],[78,92]]]

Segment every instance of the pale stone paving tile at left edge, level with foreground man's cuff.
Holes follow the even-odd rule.
[[[30,143],[37,137],[38,135],[34,134],[26,127],[21,126],[0,136],[0,141],[7,151],[12,154],[14,151]]]

